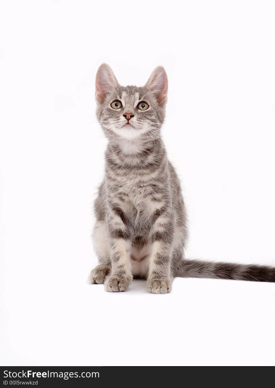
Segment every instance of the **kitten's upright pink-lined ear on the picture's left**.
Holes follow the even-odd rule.
[[[96,100],[102,104],[117,86],[117,78],[110,66],[106,63],[100,65],[96,73]]]

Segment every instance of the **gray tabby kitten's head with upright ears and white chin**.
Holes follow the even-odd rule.
[[[159,136],[167,100],[167,74],[158,66],[143,87],[121,86],[110,66],[96,74],[97,119],[110,138]]]

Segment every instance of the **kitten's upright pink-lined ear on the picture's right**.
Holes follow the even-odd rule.
[[[163,106],[167,101],[168,78],[162,66],[155,68],[144,88],[156,99],[158,105]]]

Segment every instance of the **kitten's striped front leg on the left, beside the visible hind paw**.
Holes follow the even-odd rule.
[[[111,241],[111,272],[106,277],[105,290],[126,291],[132,281],[131,248],[132,240],[125,225],[125,216],[118,208],[111,208],[108,219],[108,232]]]

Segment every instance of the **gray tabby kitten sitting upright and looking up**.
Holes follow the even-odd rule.
[[[173,277],[275,282],[275,268],[186,260],[181,186],[160,137],[168,80],[158,66],[143,87],[119,85],[110,66],[96,74],[97,118],[108,138],[105,176],[95,201],[93,284],[126,291],[146,278],[150,293],[171,291]]]

